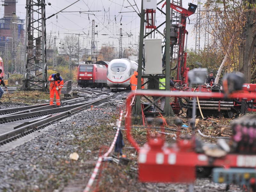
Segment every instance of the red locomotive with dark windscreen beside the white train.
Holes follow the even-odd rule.
[[[100,64],[80,64],[77,68],[77,87],[107,86],[107,67]]]

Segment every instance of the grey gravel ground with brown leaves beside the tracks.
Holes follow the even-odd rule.
[[[126,95],[120,95],[116,100]],[[5,105],[10,107],[9,104],[2,104],[1,107]],[[20,105],[23,104],[12,103],[12,107]],[[50,125],[52,128],[46,134],[11,151],[0,153],[0,191],[83,191],[97,162],[100,148],[110,147],[114,139],[116,130],[113,127],[119,118],[120,107],[122,105],[115,101],[93,106],[93,110],[89,108]],[[131,147],[125,132],[122,133],[125,147]],[[69,159],[73,152],[79,155],[77,161]],[[127,158],[134,160],[128,165],[107,163],[99,178],[99,191],[188,191],[188,185],[185,184],[140,183],[134,171],[137,167],[136,157],[132,157],[134,151],[124,148],[123,152]],[[196,180],[194,191],[219,192],[225,191],[225,188],[224,184],[215,184],[206,178]],[[228,191],[242,190],[232,185]]]

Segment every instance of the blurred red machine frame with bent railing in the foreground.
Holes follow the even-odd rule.
[[[224,168],[252,168],[256,167],[256,155],[227,154],[221,158],[209,157],[203,153],[195,152],[195,134],[191,139],[177,140],[168,147],[164,138],[149,138],[148,142],[140,148],[131,136],[131,106],[134,95],[152,95],[169,97],[198,97],[224,98],[223,93],[215,92],[172,92],[172,91],[148,91],[137,90],[132,92],[126,102],[127,116],[125,128],[127,139],[139,152],[139,180],[142,182],[181,182],[193,183],[196,179],[196,166],[224,167]],[[256,93],[232,93],[228,98],[244,98],[248,100],[256,98]]]

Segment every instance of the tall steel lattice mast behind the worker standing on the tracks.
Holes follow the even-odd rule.
[[[45,0],[26,1],[25,56],[22,90],[47,90]],[[38,17],[36,17],[38,16]]]

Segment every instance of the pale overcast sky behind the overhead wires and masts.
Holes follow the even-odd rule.
[[[76,0],[45,0],[46,18],[59,12],[65,7],[76,2]],[[157,2],[159,2],[157,0]],[[51,5],[48,5],[51,3]],[[164,3],[164,2],[163,2]],[[188,8],[188,3],[197,4],[194,0],[183,1],[183,7]],[[132,6],[131,6],[132,5]],[[162,4],[161,4],[162,5]],[[158,5],[161,8],[161,5]],[[26,19],[26,0],[18,0],[16,4],[16,15],[20,19]],[[165,7],[163,11],[165,12]],[[81,34],[80,46],[91,47],[92,38],[92,20],[95,20],[95,41],[97,41],[98,49],[102,44],[114,44],[119,50],[118,38],[120,28],[122,28],[123,38],[122,47],[137,46],[138,36],[140,33],[140,17],[137,13],[141,10],[141,0],[80,0],[69,6],[63,12],[54,15],[46,20],[46,31],[48,35],[56,36],[57,42],[60,42],[65,35]],[[4,15],[4,7],[0,9]],[[58,18],[57,18],[58,16]],[[192,17],[192,16],[190,16]],[[191,20],[191,18],[189,18]],[[156,26],[165,20],[165,16],[158,10],[156,11]],[[188,23],[188,20],[187,20]],[[122,25],[121,25],[122,24]],[[190,34],[188,41],[189,47],[195,46],[194,35],[191,28],[193,24],[187,25]],[[163,28],[159,29],[163,33]],[[66,34],[70,33],[70,34]],[[78,36],[78,35],[77,35]],[[163,37],[155,34],[155,38]]]

